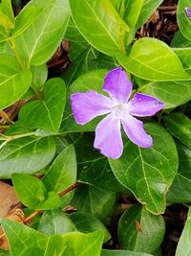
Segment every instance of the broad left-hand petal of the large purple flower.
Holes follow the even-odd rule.
[[[111,112],[114,101],[96,91],[77,92],[71,95],[75,122],[85,125],[96,116]]]

